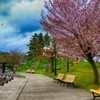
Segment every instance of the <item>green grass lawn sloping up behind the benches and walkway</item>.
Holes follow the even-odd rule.
[[[48,59],[46,58],[43,58],[42,60],[39,58],[34,58],[33,60],[27,62],[25,65],[21,66],[21,68],[16,69],[16,72],[26,72],[27,69],[34,69],[34,68],[31,68],[31,65],[37,62],[39,62],[39,66],[35,69],[36,74],[43,74],[51,78],[55,77],[54,73],[51,73],[50,68],[49,68],[49,71],[46,72],[43,67],[44,64],[50,64],[50,62],[48,62]],[[81,89],[89,91],[91,88],[93,89],[100,88],[100,64],[96,64],[96,66],[97,66],[98,74],[99,74],[98,84],[93,83],[93,80],[94,80],[93,69],[91,65],[85,61],[81,61],[79,62],[79,64],[74,64],[73,66],[69,64],[69,72],[66,72],[66,61],[58,60],[57,68],[60,68],[61,70],[58,70],[57,74],[64,73],[64,77],[66,76],[66,74],[76,75],[76,79],[75,79],[76,88],[81,88]]]

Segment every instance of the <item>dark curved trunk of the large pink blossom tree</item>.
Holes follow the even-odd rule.
[[[92,59],[92,57],[88,57],[88,61],[91,64],[92,68],[93,68],[93,72],[94,72],[94,83],[98,83],[98,71],[96,68],[96,65]]]

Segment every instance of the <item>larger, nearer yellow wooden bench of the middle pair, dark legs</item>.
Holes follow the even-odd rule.
[[[75,77],[76,75],[67,74],[65,80],[61,80],[61,83],[64,83],[64,85],[67,84],[67,88],[70,85],[73,85],[73,87],[75,88],[75,85],[74,85]]]

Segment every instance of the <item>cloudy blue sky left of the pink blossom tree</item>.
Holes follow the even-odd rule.
[[[44,0],[0,0],[0,51],[21,49],[34,33],[46,33],[39,21]]]

